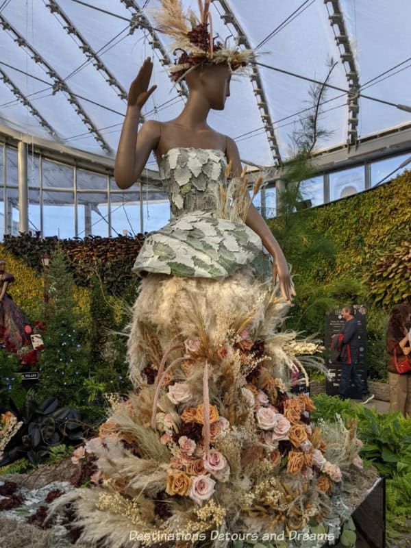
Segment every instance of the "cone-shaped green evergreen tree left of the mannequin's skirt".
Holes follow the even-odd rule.
[[[43,336],[45,349],[40,354],[36,395],[39,399],[58,397],[60,406],[76,406],[87,399],[84,378],[88,377],[90,358],[86,333],[79,327],[81,315],[74,298],[73,277],[60,249],[52,257],[46,284],[47,331]]]

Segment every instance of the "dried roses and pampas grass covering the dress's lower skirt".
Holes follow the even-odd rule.
[[[262,295],[248,314],[221,312],[212,330],[192,302],[197,336],[175,339],[162,357],[146,332],[143,382],[126,401],[110,398],[99,437],[73,456],[97,466],[95,486],[60,500],[77,507],[82,541],[208,547],[218,531],[264,543],[325,519],[338,536],[349,517],[341,486],[362,466],[356,424],[311,424],[312,400],[288,396],[279,364],[305,371],[316,358],[299,353],[317,345],[273,329],[286,306],[275,288]]]

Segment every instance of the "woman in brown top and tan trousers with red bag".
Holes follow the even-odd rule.
[[[401,411],[403,416],[411,416],[411,346],[407,327],[410,319],[411,306],[397,304],[386,333],[390,410]]]

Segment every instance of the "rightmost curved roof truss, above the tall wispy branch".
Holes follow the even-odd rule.
[[[333,12],[329,14],[329,24],[334,30],[337,47],[340,50],[340,59],[345,63],[345,73],[347,75],[349,93],[347,97],[348,104],[348,145],[356,145],[358,140],[358,112],[360,104],[358,97],[360,94],[360,75],[358,73],[357,64],[347,34],[347,29],[344,23],[343,12],[340,8],[339,0],[324,0],[325,5],[331,4]],[[338,34],[334,26],[338,27]],[[342,49],[340,48],[342,47]]]

